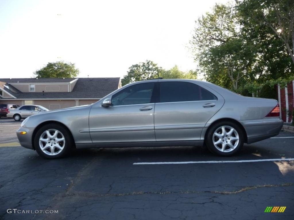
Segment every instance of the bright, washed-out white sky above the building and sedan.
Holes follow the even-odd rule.
[[[123,77],[145,60],[195,69],[194,21],[216,2],[227,0],[0,0],[0,78],[59,60],[75,63],[78,77]]]

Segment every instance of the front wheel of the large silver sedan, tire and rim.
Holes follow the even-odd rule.
[[[57,142],[58,139],[60,140],[59,142]],[[64,126],[56,123],[42,126],[34,137],[34,146],[37,153],[41,157],[48,159],[66,157],[71,152],[73,143],[69,131]]]

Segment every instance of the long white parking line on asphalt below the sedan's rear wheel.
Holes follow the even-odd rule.
[[[153,164],[188,164],[188,163],[249,163],[249,162],[264,162],[264,161],[283,161],[294,160],[294,158],[278,158],[278,159],[260,159],[260,160],[220,160],[220,161],[183,161],[183,162],[146,162],[133,163],[133,165],[153,165]]]

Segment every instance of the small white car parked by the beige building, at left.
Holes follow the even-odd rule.
[[[25,119],[31,115],[36,115],[47,111],[50,110],[40,105],[22,105],[17,109],[9,109],[6,117],[14,118],[15,121],[20,121],[21,119]]]

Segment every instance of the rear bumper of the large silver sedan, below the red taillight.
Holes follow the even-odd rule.
[[[248,144],[276,136],[283,127],[283,120],[276,119],[276,117],[269,117],[264,121],[252,120],[241,123],[247,133]]]

